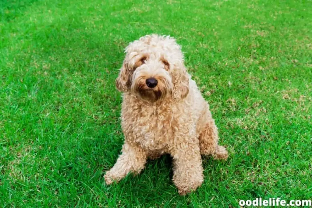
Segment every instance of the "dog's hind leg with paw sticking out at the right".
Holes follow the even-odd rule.
[[[226,160],[228,157],[227,150],[218,144],[218,128],[210,112],[207,112],[205,116],[207,123],[199,136],[200,153],[202,155],[212,155],[215,159]]]

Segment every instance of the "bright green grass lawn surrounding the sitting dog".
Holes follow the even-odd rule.
[[[0,207],[238,207],[312,198],[312,2],[0,0]],[[171,158],[106,186],[123,49],[174,36],[226,162],[179,196]]]

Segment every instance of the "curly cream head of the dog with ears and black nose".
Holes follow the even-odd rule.
[[[188,73],[180,46],[169,36],[144,36],[129,44],[116,87],[155,102],[188,94]]]

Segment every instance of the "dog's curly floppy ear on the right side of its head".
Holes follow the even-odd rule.
[[[172,96],[174,99],[183,99],[188,95],[188,73],[184,65],[173,69],[174,75],[172,76]]]

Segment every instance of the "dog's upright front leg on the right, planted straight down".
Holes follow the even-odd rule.
[[[202,159],[199,145],[182,143],[171,152],[173,156],[173,182],[179,194],[185,195],[194,191],[203,182]]]

